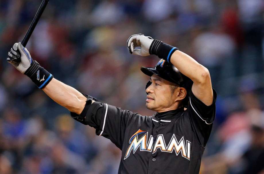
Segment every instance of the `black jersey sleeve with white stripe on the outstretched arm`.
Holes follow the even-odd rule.
[[[82,121],[77,120],[78,115],[71,112],[75,120],[94,127],[96,135],[110,139],[119,149],[122,148],[127,125],[140,117],[137,113],[101,102],[86,104],[81,115],[85,115]]]

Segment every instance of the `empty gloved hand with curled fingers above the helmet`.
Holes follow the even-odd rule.
[[[139,56],[149,56],[150,45],[153,39],[150,36],[145,36],[143,34],[135,34],[129,37],[127,40],[127,48],[130,54],[135,54]],[[140,47],[140,49],[134,49]]]

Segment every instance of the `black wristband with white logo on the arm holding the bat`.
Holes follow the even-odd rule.
[[[35,60],[24,73],[27,75],[40,89],[43,89],[53,78],[53,75],[45,70]]]

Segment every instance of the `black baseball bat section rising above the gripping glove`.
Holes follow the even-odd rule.
[[[21,42],[21,44],[22,44],[24,47],[26,47],[26,45],[27,45],[27,43],[28,43],[28,40],[29,40],[31,34],[33,33],[33,31],[34,31],[34,29],[35,29],[35,27],[36,27],[36,25],[37,25],[37,23],[38,23],[38,20],[40,19],[40,17],[41,17],[41,15],[42,15],[43,11],[45,10],[45,8],[46,8],[46,6],[47,6],[47,4],[48,4],[48,1],[49,1],[49,0],[43,0],[43,1],[42,1],[41,5],[40,5],[40,7],[39,7],[39,9],[38,9],[38,11],[37,11],[37,13],[36,13],[36,15],[35,15],[33,21],[32,21],[32,23],[30,24],[30,27],[28,28],[28,31],[27,31],[27,33],[26,33],[26,35],[25,35],[23,41]]]

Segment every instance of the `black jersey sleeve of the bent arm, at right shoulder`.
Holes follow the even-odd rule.
[[[202,146],[205,146],[212,129],[212,123],[216,116],[216,91],[213,89],[213,103],[205,105],[191,91],[189,105],[186,110],[191,120],[191,125]]]

